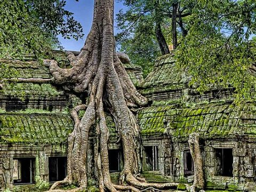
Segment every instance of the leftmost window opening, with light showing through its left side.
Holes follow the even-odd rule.
[[[34,183],[35,158],[13,158],[13,184]]]

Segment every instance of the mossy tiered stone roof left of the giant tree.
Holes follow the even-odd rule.
[[[0,60],[5,78],[51,78],[36,60]],[[69,95],[50,83],[3,83],[0,91],[0,143],[62,143],[73,130]]]

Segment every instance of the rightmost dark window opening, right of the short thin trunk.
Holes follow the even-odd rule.
[[[233,153],[231,148],[217,148],[216,174],[217,176],[233,177]]]

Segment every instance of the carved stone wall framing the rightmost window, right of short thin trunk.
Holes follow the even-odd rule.
[[[207,187],[255,190],[255,147],[256,142],[248,142],[248,140],[207,141],[204,149]],[[215,154],[216,148],[233,149],[233,177],[220,177],[217,175],[218,159]]]

